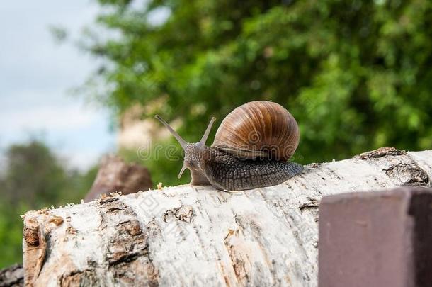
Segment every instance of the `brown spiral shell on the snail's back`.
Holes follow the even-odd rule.
[[[286,108],[271,101],[251,101],[222,120],[212,147],[244,159],[287,161],[299,140],[297,122]]]

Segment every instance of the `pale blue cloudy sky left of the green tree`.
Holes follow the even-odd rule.
[[[109,111],[71,93],[98,67],[76,45],[97,12],[89,0],[1,1],[1,152],[38,137],[70,167],[85,170],[115,151]],[[67,41],[58,43],[50,26],[65,28]]]

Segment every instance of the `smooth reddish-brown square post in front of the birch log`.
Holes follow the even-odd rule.
[[[326,196],[319,287],[432,286],[432,189]]]

